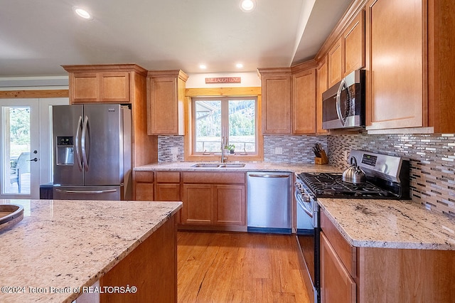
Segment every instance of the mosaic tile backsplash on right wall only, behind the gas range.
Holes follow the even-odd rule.
[[[331,165],[346,168],[345,151],[363,149],[410,159],[412,200],[455,218],[455,134],[331,135]]]

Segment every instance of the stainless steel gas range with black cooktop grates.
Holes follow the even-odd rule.
[[[314,302],[320,302],[319,206],[318,198],[410,198],[410,161],[368,151],[353,150],[358,166],[365,171],[366,181],[353,184],[343,181],[342,173],[301,173],[295,184],[297,240],[310,277],[307,289]],[[311,220],[311,228],[299,228],[299,213]],[[300,216],[300,217],[301,217]]]

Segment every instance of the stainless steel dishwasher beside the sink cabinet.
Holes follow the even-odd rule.
[[[292,188],[289,172],[248,172],[248,231],[291,233]]]

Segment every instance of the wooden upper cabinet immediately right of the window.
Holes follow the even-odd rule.
[[[291,134],[291,68],[258,68],[262,134]]]

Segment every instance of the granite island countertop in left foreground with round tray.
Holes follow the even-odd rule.
[[[92,286],[182,206],[152,201],[0,204],[24,208],[23,220],[0,232],[0,302],[72,302],[82,287]]]

